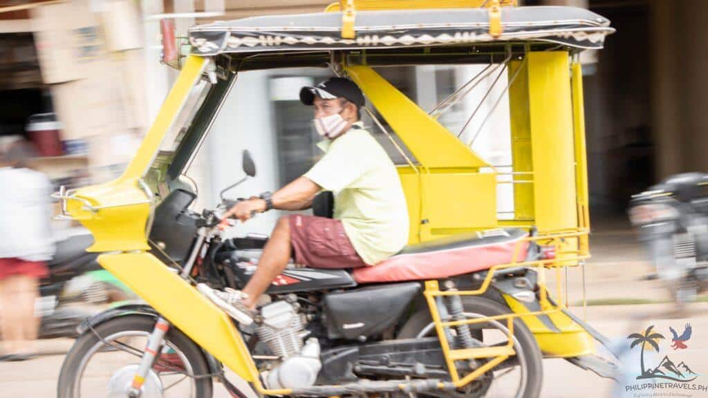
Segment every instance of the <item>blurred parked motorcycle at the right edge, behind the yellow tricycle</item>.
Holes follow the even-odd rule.
[[[676,174],[633,195],[629,220],[676,305],[708,291],[708,174]]]

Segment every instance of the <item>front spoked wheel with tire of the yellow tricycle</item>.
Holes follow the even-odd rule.
[[[129,315],[99,324],[93,329],[96,333],[89,330],[79,336],[64,358],[57,397],[128,397],[154,326],[155,319]],[[200,348],[181,331],[170,329],[145,377],[141,398],[211,398],[212,379],[204,376],[209,373]]]

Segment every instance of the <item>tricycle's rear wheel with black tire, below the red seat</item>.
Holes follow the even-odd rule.
[[[464,313],[467,317],[493,317],[496,315],[508,314],[510,312],[508,307],[484,297],[463,297],[462,307],[464,308]],[[503,321],[496,323],[496,326],[494,327],[496,329],[506,330],[505,325],[506,321]],[[537,398],[541,394],[541,386],[543,382],[543,356],[538,348],[536,339],[521,319],[516,318],[514,320],[513,329],[513,336],[515,340],[514,348],[518,354],[514,358],[507,359],[498,365],[498,367],[505,364],[511,366],[512,368],[518,366],[522,377],[520,377],[520,387],[518,392],[515,394],[515,397]],[[472,336],[474,336],[474,338],[479,339],[478,336],[481,336],[481,334],[481,330],[472,329]],[[397,338],[415,339],[423,336],[435,335],[435,328],[433,327],[433,320],[430,317],[430,311],[428,310],[428,307],[424,307],[416,312],[416,314],[413,314],[408,322],[404,324],[401,331],[399,331]],[[483,377],[488,377],[488,379],[484,380]],[[491,377],[491,380],[489,380],[489,377]],[[475,382],[477,382],[477,384],[483,384],[485,382],[494,381],[495,380],[493,380],[492,375],[486,375],[479,377],[477,380],[470,383],[470,385],[473,385]],[[468,385],[468,387],[474,387],[470,385]],[[467,388],[467,390],[452,392],[447,395],[450,397],[486,397],[489,392],[489,386],[486,386],[486,388],[484,387],[484,385],[478,386],[476,392],[473,392],[474,388],[472,390]],[[496,397],[498,394],[492,393],[489,396]]]

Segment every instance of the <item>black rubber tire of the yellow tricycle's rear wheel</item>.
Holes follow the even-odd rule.
[[[462,307],[464,307],[464,312],[482,314],[489,317],[511,312],[508,307],[483,297],[462,297]],[[430,311],[428,307],[424,307],[413,314],[406,324],[401,327],[397,338],[413,339],[431,322],[433,322],[433,319],[430,317]],[[474,331],[472,333],[474,336]],[[514,319],[514,337],[523,348],[523,366],[527,368],[527,381],[523,397],[537,398],[541,394],[541,386],[543,384],[543,356],[533,334],[519,318]]]

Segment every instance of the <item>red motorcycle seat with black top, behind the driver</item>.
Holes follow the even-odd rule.
[[[529,246],[523,229],[493,229],[406,246],[376,266],[355,268],[358,283],[448,278],[524,261]],[[514,254],[516,253],[516,258]]]

